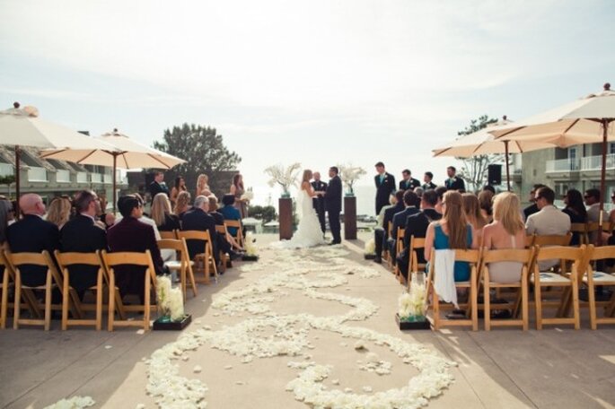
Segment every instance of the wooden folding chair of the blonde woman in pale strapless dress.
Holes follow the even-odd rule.
[[[491,326],[521,326],[523,331],[529,327],[529,295],[528,295],[528,275],[532,271],[534,262],[534,248],[517,249],[505,248],[499,250],[483,249],[482,261],[480,263],[479,276],[483,284],[483,300],[485,313],[485,330],[490,331]],[[520,279],[516,283],[494,283],[489,274],[489,265],[498,262],[516,262],[519,263]],[[480,283],[480,279],[479,279]],[[521,306],[521,319],[491,319],[491,309],[502,309],[506,306],[502,304],[491,305],[491,289],[514,288],[520,292],[519,304]],[[508,306],[510,307],[510,306]],[[513,309],[516,309],[513,306]],[[513,312],[513,317],[516,317],[516,311]]]

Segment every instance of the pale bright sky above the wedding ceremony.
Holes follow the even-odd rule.
[[[0,0],[0,16],[0,105],[145,144],[215,126],[249,186],[294,161],[440,181],[451,160],[431,150],[470,119],[615,82],[609,1]]]

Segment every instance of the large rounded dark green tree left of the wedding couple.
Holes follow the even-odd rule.
[[[186,160],[165,172],[165,179],[170,183],[181,175],[193,194],[200,173],[209,177],[209,186],[216,196],[228,192],[229,171],[235,170],[242,161],[237,153],[228,150],[223,136],[210,126],[183,124],[165,129],[163,141],[154,142],[154,148]]]

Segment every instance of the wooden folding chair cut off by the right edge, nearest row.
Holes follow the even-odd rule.
[[[615,286],[615,274],[606,273],[603,271],[595,271],[593,265],[597,261],[604,261],[615,258],[615,246],[601,246],[588,248],[589,262],[587,263],[586,273],[582,275],[583,283],[587,286],[587,294],[589,298],[589,317],[592,329],[596,329],[598,324],[615,324],[615,318],[612,317],[612,310],[609,311],[609,306],[612,300],[615,300],[615,295],[608,301],[596,300],[596,287],[600,286]],[[602,263],[604,265],[604,263]],[[602,317],[598,317],[598,307],[603,308]]]

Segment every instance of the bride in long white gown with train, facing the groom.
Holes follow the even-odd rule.
[[[322,237],[321,223],[312,205],[312,198],[321,195],[321,192],[314,192],[310,184],[312,170],[303,170],[301,189],[297,196],[297,213],[299,215],[299,226],[290,240],[282,240],[276,244],[279,248],[310,248],[325,244]]]

